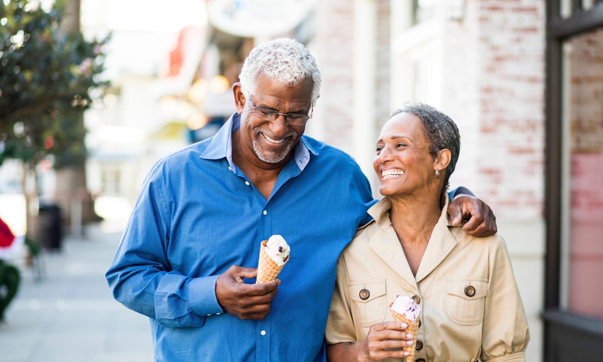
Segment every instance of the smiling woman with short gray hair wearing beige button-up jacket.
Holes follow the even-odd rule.
[[[337,264],[326,328],[329,361],[400,361],[412,345],[388,305],[421,307],[415,362],[525,361],[528,323],[500,235],[450,224],[446,189],[460,136],[425,104],[397,110],[377,140],[374,170],[385,197]]]

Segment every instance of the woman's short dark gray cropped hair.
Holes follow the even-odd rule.
[[[440,150],[446,148],[450,150],[452,156],[450,157],[450,164],[446,167],[446,176],[444,177],[444,190],[447,190],[450,186],[448,180],[454,172],[461,151],[461,135],[455,122],[434,107],[423,103],[408,104],[404,108],[394,110],[390,118],[400,113],[410,113],[421,120],[425,139],[429,144],[429,154],[434,159]]]

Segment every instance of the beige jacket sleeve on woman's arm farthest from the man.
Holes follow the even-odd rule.
[[[500,235],[491,244],[488,294],[484,306],[482,353],[488,362],[525,361],[528,320],[513,275],[507,244]]]

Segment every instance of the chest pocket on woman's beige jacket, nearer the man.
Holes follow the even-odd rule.
[[[361,327],[383,322],[387,315],[385,279],[370,279],[348,283],[352,317]]]

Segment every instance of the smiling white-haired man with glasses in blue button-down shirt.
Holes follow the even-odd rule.
[[[218,134],[154,165],[106,275],[119,302],[149,317],[156,361],[325,360],[336,261],[370,221],[356,162],[303,136],[320,89],[308,50],[257,46],[240,79]],[[473,214],[473,235],[496,231],[475,197],[449,210],[457,224]],[[280,280],[253,284],[273,234],[291,258]]]

